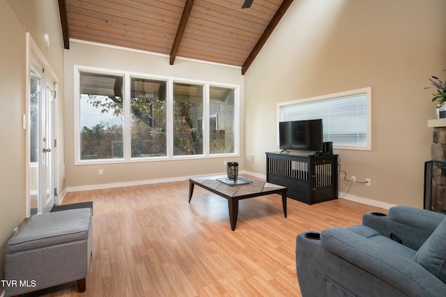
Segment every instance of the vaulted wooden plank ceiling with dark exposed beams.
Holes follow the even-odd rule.
[[[231,66],[251,65],[293,0],[59,0],[69,39]]]

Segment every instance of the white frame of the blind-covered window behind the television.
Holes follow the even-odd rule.
[[[350,91],[343,91],[339,93],[332,93],[322,96],[292,100],[287,102],[279,102],[277,103],[277,131],[279,131],[279,122],[282,121],[282,109],[283,107],[288,107],[290,105],[299,105],[305,104],[309,102],[316,101],[327,101],[327,100],[336,100],[342,97],[355,96],[365,94],[367,97],[367,144],[359,145],[359,144],[335,144],[333,143],[333,148],[341,149],[341,150],[353,150],[353,151],[371,151],[371,86],[362,88],[362,89],[354,89]],[[277,145],[279,145],[279,133],[277,132]]]

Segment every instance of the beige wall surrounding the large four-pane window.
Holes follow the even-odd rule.
[[[216,66],[176,59],[173,66],[169,58],[143,52],[131,52],[121,48],[102,47],[72,40],[65,53],[66,84],[66,185],[67,190],[105,188],[114,185],[132,185],[153,181],[185,179],[189,176],[223,173],[224,160],[240,163],[243,157],[207,158],[195,160],[169,160],[131,162],[107,165],[75,165],[74,152],[74,89],[72,84],[74,66],[89,66],[112,70],[125,70],[150,75],[163,75],[183,79],[198,79],[208,82],[237,84],[240,86],[240,151],[244,152],[243,92],[244,77],[240,68]],[[243,153],[241,154],[243,155]],[[103,169],[103,175],[98,175]]]

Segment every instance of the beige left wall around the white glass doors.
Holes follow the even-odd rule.
[[[57,0],[0,1],[0,279],[3,255],[13,230],[26,216],[25,137],[22,114],[26,112],[26,31],[30,32],[59,78],[63,110],[63,42]],[[43,36],[49,33],[50,47]],[[60,106],[59,106],[60,107]],[[58,111],[59,117],[61,109]],[[63,139],[63,134],[59,135]],[[63,142],[63,141],[61,141]],[[59,155],[63,160],[63,155]],[[59,178],[63,188],[63,178]],[[1,289],[0,289],[1,293]]]

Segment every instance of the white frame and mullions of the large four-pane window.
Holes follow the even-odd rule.
[[[123,76],[123,158],[113,159],[95,159],[81,160],[80,155],[80,87],[79,79],[81,72],[99,73],[105,75]],[[167,82],[167,155],[152,156],[145,158],[131,157],[131,137],[130,137],[130,80],[132,77],[141,77],[143,79],[156,79]],[[238,157],[240,155],[240,86],[238,84],[225,84],[220,82],[208,82],[199,79],[185,79],[180,77],[169,77],[162,75],[151,75],[148,73],[135,73],[123,70],[112,70],[107,68],[96,68],[89,66],[74,66],[74,137],[75,137],[75,165],[93,165],[93,164],[116,164],[116,163],[132,163],[132,162],[153,162],[153,161],[169,161],[169,160],[193,160],[202,158],[227,158]],[[197,84],[203,86],[203,153],[199,155],[174,155],[174,83]],[[234,152],[233,153],[210,153],[210,131],[206,127],[209,126],[210,116],[210,86],[217,86],[234,90]],[[206,128],[206,129],[205,129]]]

